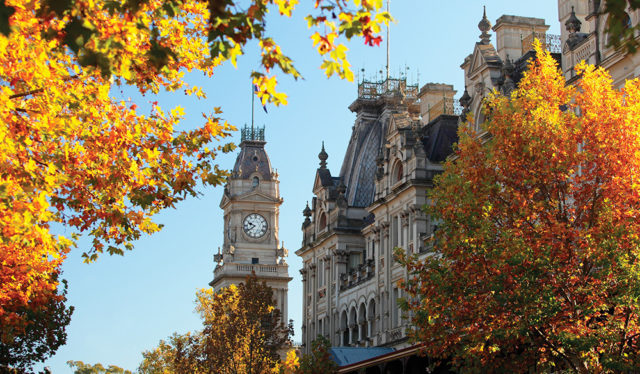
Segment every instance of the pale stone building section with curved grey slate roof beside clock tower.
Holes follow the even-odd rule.
[[[324,146],[304,209],[303,344],[408,345],[397,299],[406,271],[393,248],[425,253],[435,226],[420,207],[456,141],[453,87],[405,79],[362,82],[349,109],[356,121],[342,168],[333,175]]]

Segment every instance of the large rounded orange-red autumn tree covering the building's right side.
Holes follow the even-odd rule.
[[[434,253],[403,259],[411,333],[463,372],[637,371],[640,82],[581,63],[569,86],[536,53],[436,179]]]

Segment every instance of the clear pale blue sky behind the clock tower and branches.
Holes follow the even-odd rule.
[[[301,0],[308,5],[309,0]],[[492,23],[503,14],[544,18],[549,32],[559,34],[557,2],[514,0],[393,0],[391,13],[391,72],[397,76],[408,68],[411,83],[453,84],[457,97],[464,90],[460,64],[473,50],[480,31],[477,24],[482,6]],[[280,210],[280,239],[289,249],[289,317],[294,319],[294,341],[299,341],[301,261],[294,252],[302,240],[302,209],[313,197],[311,188],[321,142],[329,154],[328,167],[336,175],[349,141],[355,115],[347,108],[356,98],[357,83],[327,79],[318,68],[320,57],[312,47],[311,31],[302,18],[308,8],[299,7],[291,19],[274,17],[267,23],[270,34],[285,54],[293,58],[304,79],[279,77],[280,89],[289,95],[289,105],[269,106],[265,114],[256,105],[256,125],[266,127],[266,150],[280,174],[284,204]],[[374,79],[384,69],[385,48],[365,47],[360,39],[348,43],[354,71]],[[253,50],[252,50],[253,49]],[[192,74],[188,80],[204,87],[208,98],[192,100],[181,93],[142,97],[130,89],[114,90],[117,98],[128,98],[143,110],[159,100],[163,108],[181,105],[187,113],[184,128],[200,125],[202,112],[221,107],[222,117],[240,128],[251,121],[249,73],[258,66],[255,45],[238,61],[237,68],[224,66],[213,78]],[[239,133],[233,141],[239,143]],[[223,168],[233,167],[237,152],[218,158]],[[134,370],[141,352],[151,349],[173,332],[200,328],[193,312],[195,292],[208,287],[213,277],[213,254],[222,244],[222,188],[201,189],[202,196],[163,212],[156,221],[162,232],[145,237],[124,257],[103,256],[94,264],[83,264],[81,242],[63,267],[69,281],[69,304],[75,307],[68,327],[67,344],[45,365],[53,373],[70,373],[68,360],[100,362]],[[64,232],[64,230],[63,230]]]

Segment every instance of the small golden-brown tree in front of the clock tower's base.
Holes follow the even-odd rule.
[[[201,290],[202,331],[174,335],[144,352],[140,373],[277,373],[293,326],[280,320],[274,302],[271,287],[255,275],[217,293]]]

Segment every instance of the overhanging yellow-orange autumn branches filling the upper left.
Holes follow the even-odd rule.
[[[234,127],[220,109],[185,130],[180,107],[150,112],[110,95],[130,86],[205,97],[189,72],[211,76],[235,64],[257,41],[251,73],[261,100],[286,103],[275,70],[299,77],[269,37],[267,14],[290,16],[297,0],[0,0],[0,325],[24,333],[24,308],[54,297],[59,271],[77,235],[101,253],[123,254],[153,217],[218,185],[216,154]],[[381,0],[317,0],[307,20],[328,75],[352,78],[340,36],[379,44],[388,19]],[[70,234],[56,235],[63,226]]]

